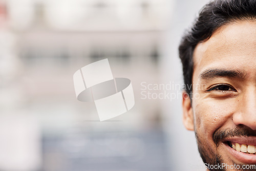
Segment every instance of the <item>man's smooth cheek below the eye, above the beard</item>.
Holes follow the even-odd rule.
[[[233,106],[231,100],[202,99],[195,103],[194,117],[196,131],[212,137],[215,131],[229,122]]]

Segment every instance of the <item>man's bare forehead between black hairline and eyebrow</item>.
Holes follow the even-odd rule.
[[[208,40],[196,46],[193,81],[200,72],[209,68],[255,70],[255,57],[256,20],[237,21],[221,26]]]

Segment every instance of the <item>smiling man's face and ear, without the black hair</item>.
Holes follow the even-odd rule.
[[[183,111],[205,163],[230,165],[223,170],[256,165],[256,154],[244,153],[256,146],[255,20],[222,26],[197,45],[192,103],[184,98]]]

